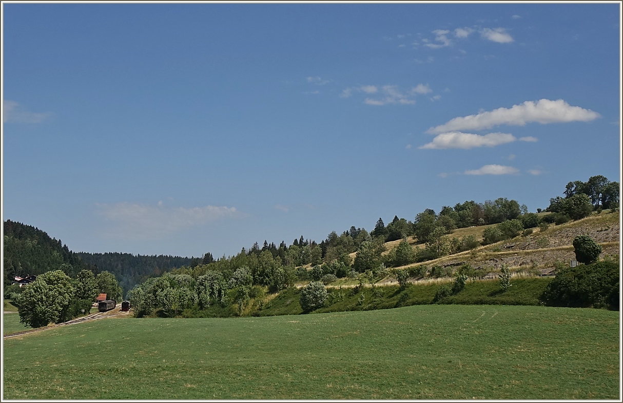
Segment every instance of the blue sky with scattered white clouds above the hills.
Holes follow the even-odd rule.
[[[620,5],[3,3],[2,214],[233,255],[620,181]]]

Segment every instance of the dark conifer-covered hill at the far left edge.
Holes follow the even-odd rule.
[[[4,282],[15,276],[39,275],[50,270],[63,270],[70,277],[80,270],[95,270],[69,250],[60,239],[50,238],[46,232],[6,220],[4,222]]]

